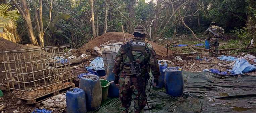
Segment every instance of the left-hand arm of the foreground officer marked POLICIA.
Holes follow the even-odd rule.
[[[119,80],[119,73],[120,73],[120,64],[123,61],[123,56],[122,56],[122,50],[121,48],[118,50],[118,53],[116,54],[115,57],[115,62],[114,62],[114,67],[113,67],[113,73],[115,75],[115,84],[118,84],[118,80]]]

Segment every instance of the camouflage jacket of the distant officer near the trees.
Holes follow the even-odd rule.
[[[223,35],[224,34],[224,29],[222,27],[219,26],[211,26],[209,27],[204,34],[207,35],[208,34],[208,40],[210,40],[210,38],[215,38],[214,34],[210,33],[209,30],[212,30],[215,34],[220,34]]]

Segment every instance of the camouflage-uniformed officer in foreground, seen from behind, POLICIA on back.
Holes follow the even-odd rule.
[[[155,51],[152,45],[145,41],[145,36],[147,35],[146,28],[143,25],[137,25],[133,35],[135,39],[126,43],[130,43],[133,57],[140,65],[141,74],[139,76],[141,76],[141,80],[138,80],[136,75],[131,73],[131,61],[122,48],[119,49],[116,55],[113,68],[113,73],[115,74],[114,83],[116,85],[119,84],[119,99],[122,104],[122,113],[128,113],[132,99],[134,100],[135,113],[143,112],[146,106],[146,95],[142,94],[140,84],[143,84],[144,89],[146,88],[147,80],[145,76],[150,69],[155,78],[154,85],[158,84],[158,77],[160,75]]]

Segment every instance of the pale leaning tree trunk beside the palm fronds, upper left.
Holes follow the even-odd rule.
[[[17,4],[17,2],[15,0],[11,0],[11,1],[16,6],[16,8],[19,10],[19,12],[22,14],[22,17],[25,20],[25,24],[27,26],[26,29],[28,31],[31,44],[38,46],[37,39],[34,36],[34,31],[33,31],[33,26],[32,26],[32,22],[31,22],[31,18],[30,18],[27,1],[21,0],[21,7],[23,10],[20,8],[20,6]]]

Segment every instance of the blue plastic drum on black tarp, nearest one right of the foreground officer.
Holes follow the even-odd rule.
[[[173,97],[182,96],[184,90],[184,81],[182,71],[179,67],[169,67],[165,71],[165,89],[168,95]]]

